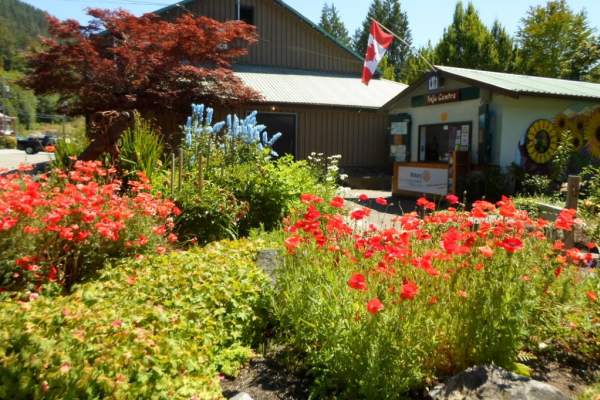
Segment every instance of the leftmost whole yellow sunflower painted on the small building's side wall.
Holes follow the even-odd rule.
[[[552,121],[538,119],[525,136],[525,149],[529,158],[536,164],[546,164],[556,153],[560,134]]]

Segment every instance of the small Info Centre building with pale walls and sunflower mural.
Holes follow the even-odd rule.
[[[598,105],[600,84],[436,66],[384,107],[393,191],[444,195],[472,169],[544,164],[558,145],[556,122]]]

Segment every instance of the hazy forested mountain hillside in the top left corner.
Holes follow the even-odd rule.
[[[0,0],[0,69],[21,69],[22,51],[47,31],[44,11],[20,0]]]

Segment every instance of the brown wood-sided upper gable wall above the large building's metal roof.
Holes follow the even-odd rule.
[[[298,68],[315,71],[360,74],[362,61],[309,26],[273,0],[241,0],[254,7],[259,42],[252,46],[240,64]],[[197,0],[185,9],[220,21],[236,18],[235,0]],[[174,7],[162,15],[174,18],[183,12]]]

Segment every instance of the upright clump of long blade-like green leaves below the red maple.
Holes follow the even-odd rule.
[[[138,112],[119,141],[119,166],[128,176],[143,172],[151,182],[161,173],[163,143],[154,125]]]

